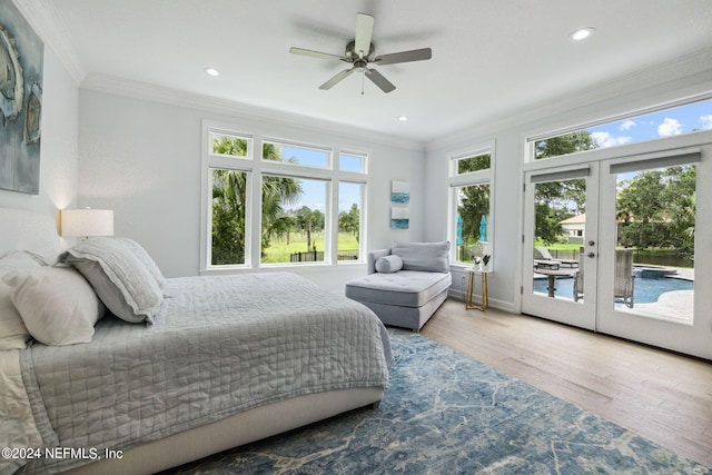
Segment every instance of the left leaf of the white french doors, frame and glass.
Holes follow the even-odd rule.
[[[525,314],[596,329],[597,207],[599,164],[525,174]],[[576,226],[562,229],[565,216]]]

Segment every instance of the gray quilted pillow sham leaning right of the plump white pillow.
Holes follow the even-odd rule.
[[[164,295],[156,278],[123,244],[90,238],[59,256],[71,264],[117,317],[129,323],[154,323]]]

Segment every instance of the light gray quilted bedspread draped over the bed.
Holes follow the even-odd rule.
[[[103,454],[298,395],[387,386],[380,320],[294,274],[175,278],[164,294],[154,325],[107,316],[90,344],[23,352],[48,445]],[[31,461],[24,471],[80,463]]]

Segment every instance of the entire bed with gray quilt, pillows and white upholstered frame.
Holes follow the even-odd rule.
[[[157,287],[158,305],[117,307],[91,274],[111,274],[107,256],[142,263],[103,278]],[[360,304],[290,273],[164,279],[151,264],[130,239],[60,254],[53,217],[0,208],[0,284],[34,337],[0,349],[0,473],[155,473],[383,397],[390,345]],[[67,301],[40,290],[89,317],[57,324]]]

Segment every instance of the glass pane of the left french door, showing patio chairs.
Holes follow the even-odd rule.
[[[534,293],[583,303],[584,269],[580,263],[586,226],[586,179],[533,186]]]

